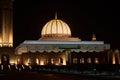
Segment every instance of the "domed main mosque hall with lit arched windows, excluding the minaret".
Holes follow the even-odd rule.
[[[15,54],[15,63],[25,65],[118,64],[110,44],[97,41],[95,34],[91,41],[72,37],[67,23],[56,17],[44,25],[39,40],[25,40]]]

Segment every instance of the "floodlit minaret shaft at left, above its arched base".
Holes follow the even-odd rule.
[[[13,47],[13,0],[0,0],[0,47]]]

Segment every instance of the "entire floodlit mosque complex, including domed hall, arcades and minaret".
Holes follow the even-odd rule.
[[[97,41],[95,34],[91,41],[72,37],[69,25],[57,15],[43,26],[38,40],[25,40],[14,48],[12,1],[0,1],[0,64],[120,64],[119,50],[112,51],[110,44]]]

